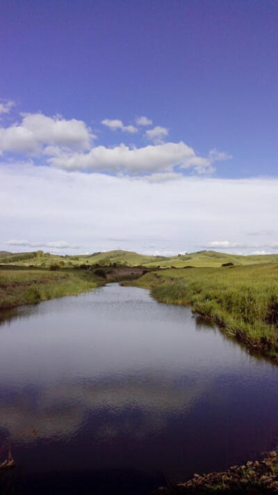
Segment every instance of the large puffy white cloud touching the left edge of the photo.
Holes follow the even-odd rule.
[[[22,123],[0,127],[0,151],[36,154],[44,147],[88,150],[93,136],[82,120],[65,120],[42,113],[25,113]]]

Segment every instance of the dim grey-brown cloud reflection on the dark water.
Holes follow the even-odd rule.
[[[111,437],[113,432],[115,437],[127,427],[129,434],[142,437],[165,427],[167,416],[184,414],[208,386],[208,380],[183,379],[182,388],[174,382],[175,377],[164,374],[163,377],[107,377],[75,384],[60,382],[37,390],[19,388],[9,395],[5,388],[0,389],[0,428],[17,441],[66,439],[76,434],[90,413],[120,416],[121,411],[129,408],[144,411],[140,426],[132,425],[132,419],[116,429],[108,423],[101,425],[96,435],[104,439],[106,433]],[[31,425],[35,427],[35,436]]]

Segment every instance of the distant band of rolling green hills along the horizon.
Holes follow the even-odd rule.
[[[146,256],[133,251],[107,251],[104,253],[92,253],[90,255],[58,256],[42,251],[31,253],[8,253],[1,256],[1,263],[7,265],[50,267],[74,267],[80,265],[142,265],[144,267],[221,267],[223,263],[231,262],[234,265],[254,265],[265,262],[278,262],[278,254],[240,256],[217,251],[198,251],[197,253],[186,253],[179,256]]]

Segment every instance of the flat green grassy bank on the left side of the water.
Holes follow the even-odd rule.
[[[79,269],[1,267],[0,309],[80,294],[101,283],[103,280],[92,272]]]

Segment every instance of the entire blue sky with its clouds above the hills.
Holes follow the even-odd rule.
[[[1,0],[0,250],[278,253],[276,0]]]

